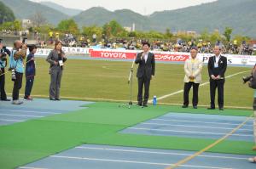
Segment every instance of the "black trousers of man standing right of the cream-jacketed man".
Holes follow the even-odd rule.
[[[215,93],[218,88],[218,108],[224,107],[224,79],[212,80],[210,79],[210,95],[211,107],[215,108]]]

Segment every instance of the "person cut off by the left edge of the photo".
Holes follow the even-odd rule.
[[[10,101],[7,99],[5,86],[5,67],[7,65],[7,55],[10,55],[8,48],[3,46],[2,39],[0,39],[0,99],[2,101]]]

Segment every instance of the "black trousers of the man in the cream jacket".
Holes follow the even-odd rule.
[[[193,99],[192,104],[196,106],[198,104],[198,88],[199,83],[195,82],[185,82],[184,83],[184,92],[183,92],[183,105],[189,105],[189,91],[193,87]]]

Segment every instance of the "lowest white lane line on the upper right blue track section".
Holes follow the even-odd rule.
[[[133,129],[133,130],[147,130],[147,131],[158,131],[158,132],[185,132],[185,133],[199,133],[199,134],[210,134],[210,135],[225,135],[225,134],[226,134],[226,133],[220,133],[220,132],[195,132],[195,131],[164,130],[164,129],[139,128],[139,127],[128,127],[127,129]],[[253,137],[253,134],[232,134],[232,136]]]

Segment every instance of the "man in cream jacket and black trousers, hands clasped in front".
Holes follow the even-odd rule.
[[[197,59],[198,48],[192,47],[190,50],[191,58],[185,61],[184,71],[184,92],[183,92],[183,108],[188,108],[189,106],[189,91],[193,87],[193,108],[197,109],[198,104],[198,88],[201,83],[201,70],[202,61]]]

